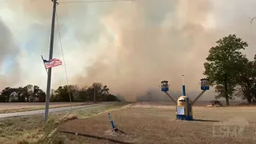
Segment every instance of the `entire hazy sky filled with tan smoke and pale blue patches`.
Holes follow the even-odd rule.
[[[67,0],[66,0],[67,1]],[[74,0],[69,0],[74,1]],[[58,24],[70,84],[102,82],[133,101],[170,82],[170,93],[200,93],[203,63],[218,39],[237,34],[256,54],[256,0],[134,0],[61,3]],[[0,89],[37,85],[46,89],[41,55],[49,58],[50,0],[0,0]],[[54,58],[62,57],[55,24]],[[52,88],[66,85],[65,67],[54,67]],[[163,95],[163,96],[162,96]],[[202,99],[213,99],[210,90]]]

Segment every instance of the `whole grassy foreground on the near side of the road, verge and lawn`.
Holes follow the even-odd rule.
[[[111,130],[109,112],[114,124],[125,134]],[[46,126],[43,124],[42,115],[2,119],[0,143],[253,144],[256,141],[255,112],[254,106],[215,108],[197,106],[194,107],[196,120],[182,122],[175,120],[175,106],[166,103],[118,103],[73,110],[70,114],[64,112],[51,114]],[[237,121],[234,123],[232,120]],[[224,121],[227,123],[221,123]],[[219,124],[222,125],[218,126]],[[242,126],[245,126],[244,130],[241,129]],[[79,134],[87,134],[87,137]]]

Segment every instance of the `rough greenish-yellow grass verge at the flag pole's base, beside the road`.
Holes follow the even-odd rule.
[[[58,133],[58,126],[62,122],[90,117],[124,105],[126,103],[92,106],[70,112],[50,114],[46,125],[42,114],[0,119],[0,143],[63,143],[62,135]]]

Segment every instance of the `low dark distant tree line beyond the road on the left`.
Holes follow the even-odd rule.
[[[110,94],[110,89],[100,82],[92,86],[79,87],[77,85],[59,86],[57,90],[50,90],[50,102],[113,102],[119,98]],[[46,92],[39,86],[6,87],[0,93],[0,102],[46,102]]]

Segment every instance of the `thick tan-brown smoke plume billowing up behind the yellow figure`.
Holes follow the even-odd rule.
[[[107,83],[111,90],[130,99],[155,90],[162,80],[169,80],[171,90],[181,90],[182,74],[186,75],[187,90],[199,91],[198,81],[210,47],[229,32],[250,30],[246,15],[238,18],[245,22],[232,31],[218,28],[218,24],[209,28],[207,21],[213,13],[213,3],[205,0],[138,1],[114,6],[103,21],[115,34],[114,42],[86,68],[87,76],[81,76],[85,82]]]

